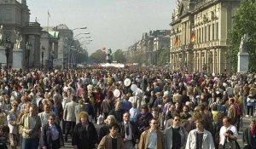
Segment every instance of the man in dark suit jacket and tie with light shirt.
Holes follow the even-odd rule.
[[[134,148],[139,138],[137,125],[130,122],[130,113],[123,114],[123,122],[119,123],[119,133],[124,140],[124,149]]]

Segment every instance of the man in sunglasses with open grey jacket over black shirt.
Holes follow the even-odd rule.
[[[185,148],[188,133],[181,126],[181,118],[176,115],[173,118],[172,126],[165,130],[166,149]]]

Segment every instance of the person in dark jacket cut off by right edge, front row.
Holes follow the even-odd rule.
[[[243,130],[244,149],[256,149],[256,120],[251,120],[250,127]]]

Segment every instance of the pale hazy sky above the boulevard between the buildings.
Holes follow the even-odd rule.
[[[89,54],[96,49],[127,50],[143,37],[143,32],[170,30],[176,0],[27,0],[30,21],[41,26],[66,24],[74,36],[90,32]],[[80,37],[88,37],[81,35]],[[80,42],[84,42],[84,38]],[[88,38],[86,38],[88,39]],[[86,42],[84,42],[86,43]]]

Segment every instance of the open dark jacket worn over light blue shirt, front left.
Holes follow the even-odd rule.
[[[59,124],[55,123],[55,127],[59,132],[59,140],[58,140],[59,144],[60,144],[60,146],[64,146],[64,140],[63,140],[63,135],[62,135],[62,131],[61,131],[61,126]],[[42,147],[46,146],[49,149],[52,147],[49,123],[47,123],[43,126],[41,136],[40,136],[40,146],[42,146]]]

